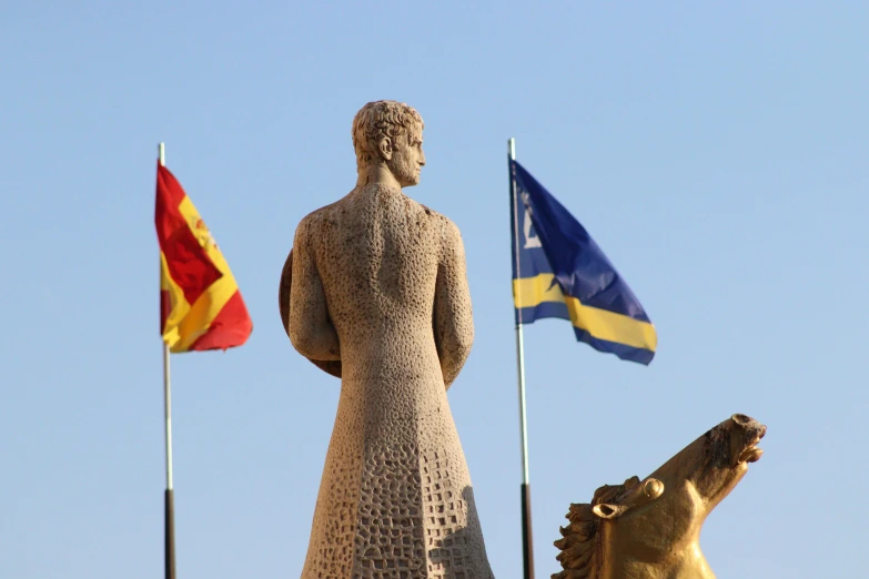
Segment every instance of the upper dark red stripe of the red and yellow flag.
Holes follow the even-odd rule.
[[[156,237],[160,250],[165,255],[169,274],[184,292],[188,303],[194,304],[211,284],[221,278],[222,274],[211,263],[211,258],[178,209],[185,196],[181,183],[166,167],[158,163],[154,212]]]

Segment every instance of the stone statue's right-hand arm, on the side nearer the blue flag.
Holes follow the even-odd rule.
[[[437,266],[433,324],[444,385],[449,388],[471,354],[474,318],[471,314],[465,247],[458,227],[448,220],[444,225]]]

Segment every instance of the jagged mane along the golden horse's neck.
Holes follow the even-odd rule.
[[[562,551],[556,557],[562,563],[562,571],[553,575],[552,579],[597,579],[603,555],[602,520],[592,512],[592,507],[602,502],[617,505],[637,485],[638,477],[630,477],[624,485],[604,485],[595,490],[590,505],[570,505],[565,515],[569,525],[559,529],[562,538],[554,544]]]

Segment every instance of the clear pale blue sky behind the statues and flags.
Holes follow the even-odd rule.
[[[659,337],[644,367],[526,328],[538,578],[570,502],[734,413],[769,431],[706,522],[718,577],[861,576],[868,24],[858,1],[3,2],[0,577],[162,577],[160,141],[254,321],[172,359],[179,577],[299,576],[340,385],[277,281],[377,99],[422,113],[407,193],[465,242],[449,403],[496,577],[522,575],[511,136]]]

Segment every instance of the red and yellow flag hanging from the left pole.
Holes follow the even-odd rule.
[[[253,322],[211,232],[181,183],[156,166],[160,332],[171,352],[241,346]]]

